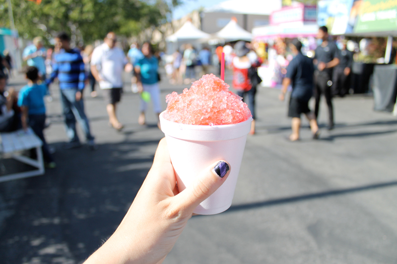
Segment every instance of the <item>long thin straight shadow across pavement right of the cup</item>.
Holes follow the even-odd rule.
[[[397,181],[374,183],[374,184],[359,186],[359,187],[354,187],[354,188],[330,190],[330,191],[319,192],[319,193],[303,194],[303,195],[267,200],[267,201],[257,202],[257,203],[234,205],[234,206],[231,206],[225,212],[251,210],[251,209],[262,208],[262,207],[297,203],[297,202],[302,202],[302,201],[307,201],[307,200],[328,198],[328,197],[337,196],[337,195],[352,194],[352,193],[356,193],[356,192],[371,191],[371,190],[375,190],[375,189],[386,188],[386,187],[395,187],[395,186],[397,186]]]

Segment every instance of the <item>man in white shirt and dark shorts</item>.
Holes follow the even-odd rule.
[[[123,124],[116,116],[116,105],[120,102],[123,92],[123,70],[132,69],[132,65],[128,63],[123,50],[116,47],[116,42],[116,34],[109,32],[104,43],[94,49],[91,56],[91,72],[98,81],[99,87],[104,90],[109,123],[120,131],[123,129]]]

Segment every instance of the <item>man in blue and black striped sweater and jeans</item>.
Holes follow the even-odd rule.
[[[55,38],[56,49],[59,53],[54,55],[53,72],[47,85],[58,77],[61,90],[61,102],[65,115],[66,134],[69,138],[65,149],[78,148],[81,146],[76,131],[76,119],[84,131],[87,145],[91,150],[96,150],[94,137],[91,135],[88,118],[84,112],[84,101],[82,92],[84,89],[85,72],[84,62],[80,51],[70,48],[70,38],[63,32]]]

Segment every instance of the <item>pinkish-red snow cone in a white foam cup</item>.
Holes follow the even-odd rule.
[[[202,76],[182,94],[167,95],[160,114],[179,191],[195,182],[209,164],[226,160],[231,171],[226,181],[194,211],[216,214],[233,200],[252,115],[241,97],[213,74]]]

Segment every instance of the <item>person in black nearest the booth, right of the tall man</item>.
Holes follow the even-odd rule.
[[[353,63],[353,53],[346,49],[346,40],[340,41],[339,64],[333,73],[333,95],[344,97],[349,92],[350,72]]]

